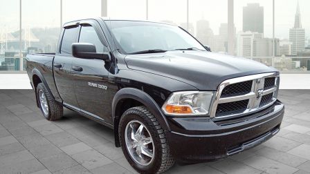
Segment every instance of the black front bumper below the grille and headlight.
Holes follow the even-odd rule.
[[[179,162],[219,160],[265,142],[280,131],[284,105],[273,106],[241,119],[213,122],[208,118],[170,117],[166,133],[172,155]]]

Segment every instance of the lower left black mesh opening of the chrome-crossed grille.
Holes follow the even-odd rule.
[[[248,99],[219,104],[217,106],[217,116],[242,113],[244,112],[244,110],[246,110],[247,106],[248,106]]]

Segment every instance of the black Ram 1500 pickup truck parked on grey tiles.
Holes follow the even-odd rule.
[[[284,115],[275,68],[210,52],[165,23],[65,23],[57,52],[28,55],[26,69],[46,119],[65,107],[112,128],[140,173],[240,153],[273,137]]]

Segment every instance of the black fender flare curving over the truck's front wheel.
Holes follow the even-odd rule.
[[[122,99],[135,99],[136,101],[139,101],[141,104],[146,106],[151,111],[151,113],[158,120],[159,124],[161,124],[161,127],[163,128],[164,131],[171,131],[167,118],[163,114],[163,111],[158,106],[158,104],[156,104],[156,101],[154,101],[154,99],[152,99],[151,96],[149,96],[143,90],[139,90],[136,88],[122,88],[118,90],[112,101],[112,119],[113,119],[114,135],[115,135],[114,137],[116,140],[116,146],[120,146],[118,139],[118,121],[122,116],[122,115],[116,115],[116,109],[117,109],[116,107],[118,106],[119,101],[121,101]]]

